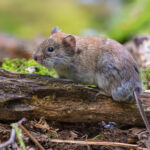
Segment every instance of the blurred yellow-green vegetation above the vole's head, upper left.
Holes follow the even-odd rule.
[[[49,36],[52,27],[79,34],[90,16],[72,0],[1,0],[0,30],[23,38]]]

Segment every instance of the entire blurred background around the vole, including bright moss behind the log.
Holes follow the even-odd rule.
[[[30,58],[54,26],[121,42],[147,69],[142,80],[150,89],[150,0],[0,0],[0,68],[28,73],[38,66],[35,73],[49,75]]]

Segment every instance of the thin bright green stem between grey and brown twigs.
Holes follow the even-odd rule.
[[[25,144],[24,144],[23,139],[22,139],[22,137],[21,137],[21,134],[20,134],[20,131],[19,131],[19,128],[18,128],[17,123],[13,123],[13,124],[12,124],[12,127],[13,127],[13,128],[15,129],[15,131],[16,131],[16,135],[17,135],[17,138],[18,138],[18,141],[19,141],[19,143],[20,143],[20,146],[21,146],[22,150],[26,150],[26,147],[25,147]]]

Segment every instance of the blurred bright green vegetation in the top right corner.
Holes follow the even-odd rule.
[[[110,22],[107,35],[124,42],[134,35],[150,33],[149,10],[149,0],[134,0],[126,3],[123,10]]]

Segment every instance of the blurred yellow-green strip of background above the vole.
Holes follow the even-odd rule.
[[[150,32],[150,0],[0,0],[0,32],[33,39],[55,25],[124,43]]]

